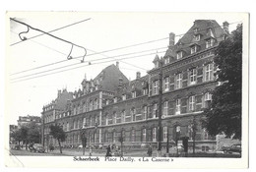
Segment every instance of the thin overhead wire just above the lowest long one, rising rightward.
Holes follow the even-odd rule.
[[[127,56],[127,55],[133,55],[133,54],[139,54],[139,53],[144,53],[144,52],[149,52],[149,51],[156,51],[156,50],[160,50],[160,49],[163,49],[163,48],[165,48],[165,47],[161,47],[161,48],[157,48],[157,49],[150,49],[150,50],[145,50],[145,51],[137,51],[137,52],[127,53],[127,54],[119,54],[119,55],[116,55],[116,56],[99,58],[99,59],[95,59],[95,60],[87,61],[87,62],[88,62],[88,63],[92,63],[92,62],[96,62],[96,61],[100,61],[100,60],[106,60],[106,59],[109,59],[109,58],[113,58],[114,60],[120,60],[120,59],[115,59],[115,57]],[[147,55],[147,54],[146,54],[146,55]],[[38,74],[42,74],[42,73],[47,73],[47,72],[49,72],[49,71],[54,71],[54,70],[58,70],[58,69],[63,69],[63,68],[71,67],[71,66],[76,66],[76,65],[81,65],[81,63],[75,63],[75,64],[66,65],[66,66],[62,66],[62,67],[58,67],[58,68],[54,68],[54,69],[50,69],[50,70],[41,71],[41,72],[38,72],[38,73],[33,73],[33,74],[30,74],[30,75],[26,75],[26,76],[22,76],[22,77],[18,77],[18,78],[12,79],[12,81],[13,81],[13,80],[22,79],[22,78],[31,77],[31,76],[38,75]]]

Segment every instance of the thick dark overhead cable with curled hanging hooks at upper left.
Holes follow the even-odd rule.
[[[58,36],[55,36],[55,35],[53,35],[53,34],[50,34],[49,32],[43,31],[43,30],[41,30],[41,29],[35,29],[35,28],[33,28],[32,26],[30,26],[30,25],[28,25],[28,24],[26,24],[26,23],[17,21],[17,20],[15,20],[15,19],[13,19],[13,18],[10,18],[10,20],[15,21],[15,22],[17,22],[17,23],[19,23],[19,24],[22,24],[22,25],[24,25],[24,26],[26,26],[26,27],[28,28],[27,31],[23,31],[23,32],[20,32],[20,33],[19,33],[19,36],[20,36],[20,38],[21,38],[22,40],[27,40],[27,37],[23,37],[23,38],[22,38],[21,34],[23,34],[23,33],[28,33],[28,32],[30,31],[30,29],[34,29],[34,30],[36,30],[36,31],[40,31],[40,32],[42,32],[42,33],[44,33],[44,34],[47,34],[47,35],[49,35],[49,36],[51,36],[51,37],[54,37],[54,38],[56,38],[56,39],[58,39],[58,40],[61,40],[61,41],[64,41],[64,42],[66,42],[66,43],[71,44],[71,49],[70,49],[69,55],[67,56],[67,59],[68,59],[68,60],[72,59],[71,53],[72,53],[72,50],[73,50],[73,46],[77,46],[77,47],[79,47],[79,48],[84,49],[85,54],[84,54],[84,56],[83,56],[83,60],[81,60],[81,62],[84,62],[85,56],[87,55],[87,49],[86,49],[85,47],[83,47],[83,46],[81,46],[81,45],[78,45],[78,44],[75,44],[75,43],[73,43],[73,42],[71,42],[71,41],[69,41],[69,40],[66,40],[66,39],[60,38],[60,37],[58,37]]]

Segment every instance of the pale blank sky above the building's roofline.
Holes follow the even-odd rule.
[[[67,60],[72,45],[47,34],[20,42],[19,33],[26,31],[27,27],[8,20],[10,27],[5,64],[5,102],[9,124],[16,125],[19,116],[40,116],[42,106],[56,98],[58,89],[67,88],[68,91],[75,91],[81,87],[85,76],[88,80],[94,79],[102,69],[115,64],[116,61],[128,79],[134,80],[136,72],[141,72],[142,76],[145,76],[147,71],[153,68],[156,54],[164,55],[169,32],[183,34],[193,26],[195,20],[216,20],[220,26],[227,21],[230,24],[230,31],[235,29],[237,22],[244,20],[238,13],[9,12],[7,16],[43,31],[59,29],[89,19],[50,32],[85,47],[87,55],[84,63],[80,62],[82,58]],[[31,29],[21,35],[29,38],[40,33]],[[181,36],[175,36],[175,41],[179,38]],[[152,42],[153,40],[159,41]],[[16,42],[20,43],[14,44]],[[135,44],[140,45],[116,50]],[[79,57],[84,54],[83,48],[73,46],[71,56]],[[118,60],[121,58],[126,59]],[[64,62],[41,67],[59,61]],[[92,65],[89,66],[89,62]],[[72,70],[64,71],[67,69]],[[24,72],[26,70],[30,71]]]

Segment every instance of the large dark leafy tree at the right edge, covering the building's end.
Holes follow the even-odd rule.
[[[204,125],[210,135],[241,139],[242,25],[220,43],[216,54],[216,77],[222,85],[213,91]]]

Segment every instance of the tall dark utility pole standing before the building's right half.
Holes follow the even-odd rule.
[[[159,89],[159,156],[161,150],[161,96],[162,96],[162,59],[160,59],[160,89]]]

